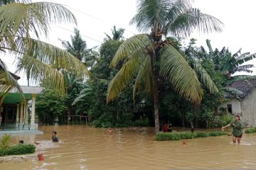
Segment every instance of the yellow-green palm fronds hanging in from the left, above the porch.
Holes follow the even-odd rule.
[[[85,65],[76,57],[39,40],[40,36],[48,35],[50,23],[76,24],[75,16],[64,6],[26,0],[12,2],[0,6],[0,18],[0,50],[16,56],[18,72],[25,72],[36,83],[44,81],[60,91],[65,90],[60,68],[81,77],[88,75]]]

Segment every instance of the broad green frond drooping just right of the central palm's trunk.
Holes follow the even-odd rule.
[[[191,69],[184,57],[171,45],[160,51],[160,74],[168,77],[176,92],[199,104],[203,96],[196,72]]]

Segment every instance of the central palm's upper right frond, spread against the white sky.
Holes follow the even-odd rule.
[[[192,8],[184,13],[179,13],[174,20],[166,24],[164,33],[186,38],[196,28],[200,33],[220,32],[223,29],[223,23],[213,16],[201,13],[198,8]]]

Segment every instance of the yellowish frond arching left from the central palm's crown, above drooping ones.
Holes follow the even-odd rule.
[[[139,50],[145,53],[147,52],[146,50],[154,51],[153,40],[149,37],[149,35],[134,35],[131,38],[122,42],[122,45],[119,46],[117,52],[113,57],[110,67],[116,67],[118,62],[127,59],[129,55]]]

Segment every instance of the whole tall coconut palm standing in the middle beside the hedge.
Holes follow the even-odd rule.
[[[207,72],[198,62],[193,69],[183,55],[165,40],[163,35],[188,37],[195,28],[203,33],[220,32],[222,25],[217,18],[193,8],[188,0],[139,0],[137,14],[131,23],[142,33],[125,40],[117,50],[110,67],[123,62],[122,68],[110,82],[107,101],[117,97],[124,86],[137,76],[135,92],[139,89],[153,92],[155,131],[159,132],[159,93],[161,77],[171,82],[174,91],[199,104],[203,96],[202,81],[210,92],[218,91]]]

